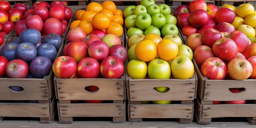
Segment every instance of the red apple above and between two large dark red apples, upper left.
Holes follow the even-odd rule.
[[[49,11],[44,5],[37,5],[34,7],[33,15],[38,15],[45,21],[49,17]]]

